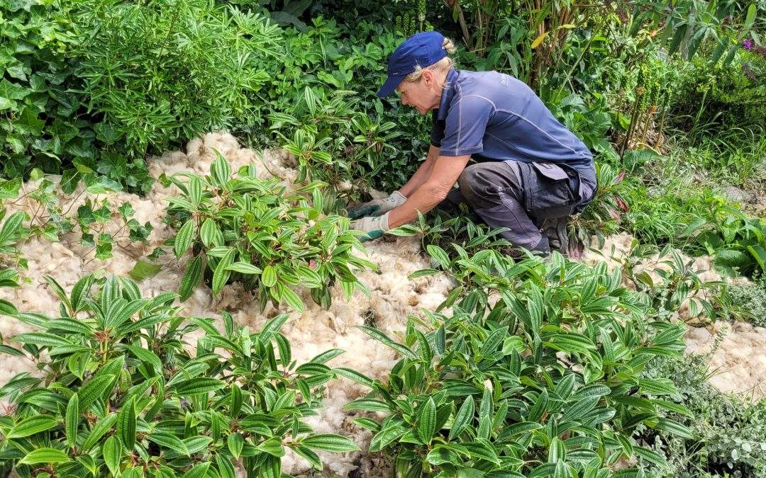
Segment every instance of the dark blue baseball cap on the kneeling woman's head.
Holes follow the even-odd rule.
[[[438,31],[423,31],[403,41],[388,58],[388,78],[378,90],[378,97],[390,95],[418,65],[425,68],[446,57],[443,44],[444,35]]]

